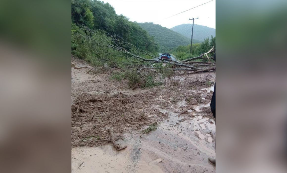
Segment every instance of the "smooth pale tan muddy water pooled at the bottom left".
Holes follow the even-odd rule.
[[[142,155],[138,160],[137,154],[132,147],[124,151],[115,151],[112,145],[75,147],[72,149],[72,172],[163,172],[157,165],[161,158],[151,161],[148,155]],[[137,162],[137,167],[133,162]]]

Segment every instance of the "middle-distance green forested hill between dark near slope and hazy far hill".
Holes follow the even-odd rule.
[[[139,24],[139,26],[147,30],[150,36],[154,36],[156,42],[160,44],[161,50],[164,50],[166,48],[177,47],[180,45],[186,46],[190,44],[191,41],[190,38],[185,37],[177,32],[174,32],[166,27],[162,27],[159,24],[154,24],[151,22],[137,23],[137,24]],[[193,43],[199,43],[199,42],[200,41],[193,39]]]

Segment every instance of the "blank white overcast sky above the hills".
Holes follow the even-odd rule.
[[[180,24],[192,24],[192,20],[188,19],[198,17],[194,24],[215,28],[216,0],[196,7],[208,1],[210,0],[104,0],[115,8],[118,15],[123,14],[130,21],[153,22],[172,28]],[[193,7],[196,8],[191,9]],[[187,9],[191,10],[165,19]]]

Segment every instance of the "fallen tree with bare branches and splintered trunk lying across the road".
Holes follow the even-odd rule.
[[[122,55],[129,59],[134,59],[135,61],[129,63],[122,63],[119,61],[111,60],[108,57],[101,57],[100,53],[98,54],[102,61],[109,61],[115,64],[118,67],[119,64],[125,65],[129,68],[137,68],[138,71],[142,71],[143,69],[160,69],[163,68],[160,65],[155,64],[168,64],[168,68],[173,71],[193,71],[193,73],[206,72],[206,71],[214,71],[215,70],[215,62],[211,62],[213,57],[208,57],[208,54],[215,51],[214,46],[206,53],[201,54],[198,57],[192,57],[189,59],[185,59],[183,61],[177,60],[165,60],[160,59],[145,50],[138,48],[137,46],[127,42],[120,36],[111,35],[106,32],[109,39],[103,39],[97,37],[95,32],[88,27],[83,26],[86,29],[85,37],[93,42],[95,42],[98,46],[102,46],[103,48],[111,48],[113,50],[117,50],[121,52]],[[119,55],[117,55],[119,56]],[[208,62],[196,61],[196,60],[208,60]]]

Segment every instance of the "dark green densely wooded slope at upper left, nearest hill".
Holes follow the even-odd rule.
[[[72,32],[79,33],[80,29],[77,26],[85,25],[94,31],[117,35],[118,38],[123,38],[148,52],[158,51],[158,44],[146,30],[129,21],[125,16],[117,15],[109,3],[97,0],[72,0],[71,12]],[[80,49],[79,46],[81,45],[76,44],[75,41],[73,43],[72,39],[72,50],[77,52]]]

